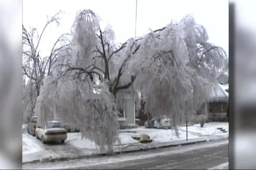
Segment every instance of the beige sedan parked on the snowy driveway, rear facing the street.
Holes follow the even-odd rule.
[[[58,142],[64,143],[67,139],[67,130],[61,127],[58,121],[49,121],[45,127],[38,126],[35,131],[37,139],[41,139],[43,143]]]

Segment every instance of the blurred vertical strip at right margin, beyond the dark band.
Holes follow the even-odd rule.
[[[256,170],[256,1],[234,2],[235,40],[232,41],[235,42],[235,78],[232,85],[234,105],[231,107],[234,109],[231,112],[234,113],[231,125],[234,126],[230,128],[235,133],[234,139],[230,139],[233,140],[230,161],[234,170]]]

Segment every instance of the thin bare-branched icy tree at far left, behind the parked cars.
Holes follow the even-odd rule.
[[[38,34],[36,28],[23,30],[23,75],[24,75],[24,110],[25,120],[34,114],[34,107],[37,96],[40,94],[40,88],[43,85],[45,75],[51,74],[52,66],[58,57],[58,51],[66,48],[69,43],[67,34],[61,35],[52,45],[49,56],[40,55],[40,43],[45,31],[51,24],[59,24],[61,12],[52,16],[45,24],[42,32]]]

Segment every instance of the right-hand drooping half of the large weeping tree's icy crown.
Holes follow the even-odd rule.
[[[205,106],[225,66],[225,51],[208,43],[204,26],[189,15],[152,31],[140,46],[130,64],[137,77],[133,86],[143,94],[145,112],[166,115],[177,127]]]

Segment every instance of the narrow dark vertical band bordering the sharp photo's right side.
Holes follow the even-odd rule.
[[[235,59],[235,4],[229,2],[229,170],[234,170],[234,59]]]

